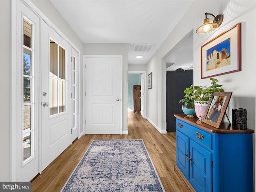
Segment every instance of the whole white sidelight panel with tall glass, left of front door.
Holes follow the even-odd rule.
[[[16,181],[39,173],[39,26],[38,16],[17,1]]]

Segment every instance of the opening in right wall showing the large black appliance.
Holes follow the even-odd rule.
[[[166,130],[175,132],[174,114],[183,113],[184,90],[193,84],[193,31],[166,55]],[[177,81],[177,79],[179,79]]]

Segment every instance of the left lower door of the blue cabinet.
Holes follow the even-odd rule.
[[[176,165],[189,179],[188,142],[189,138],[176,130]]]

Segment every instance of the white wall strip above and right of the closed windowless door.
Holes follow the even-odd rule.
[[[123,132],[128,131],[128,44],[95,43],[84,44],[83,55],[122,55],[123,56]]]

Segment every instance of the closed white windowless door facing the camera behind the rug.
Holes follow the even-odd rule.
[[[86,134],[120,134],[121,58],[84,57]],[[122,133],[121,133],[122,134]]]

